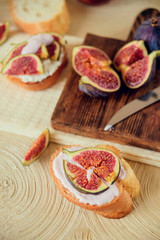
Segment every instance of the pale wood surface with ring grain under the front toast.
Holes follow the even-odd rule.
[[[5,139],[5,141],[4,141]],[[159,168],[129,162],[141,184],[133,211],[122,219],[107,219],[66,200],[49,169],[53,151],[28,167],[21,164],[33,139],[1,133],[0,239],[1,240],[159,240]]]

